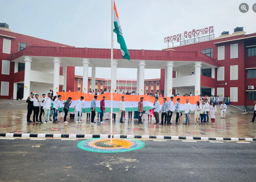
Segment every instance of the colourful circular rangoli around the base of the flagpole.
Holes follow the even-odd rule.
[[[112,144],[110,139],[88,139],[77,144],[79,149],[99,153],[129,152],[141,149],[144,146],[143,141],[135,139],[112,139]]]

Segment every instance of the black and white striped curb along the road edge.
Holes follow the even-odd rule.
[[[32,134],[32,133],[0,133],[0,137],[36,137],[36,138],[110,138],[110,135],[95,134]],[[172,139],[172,140],[230,140],[256,141],[256,138],[223,138],[223,137],[179,137],[164,135],[112,135],[114,139]]]

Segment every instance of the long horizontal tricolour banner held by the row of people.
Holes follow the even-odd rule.
[[[73,108],[76,104],[76,101],[80,99],[80,96],[84,96],[84,108],[85,112],[91,112],[91,101],[94,99],[94,95],[85,94],[81,92],[57,92],[58,95],[62,96],[62,99],[65,101],[68,97],[72,97],[72,103],[69,108],[69,112],[73,112]],[[98,99],[96,100],[96,112],[100,112],[100,101],[102,100],[103,96],[106,97],[105,106],[106,112],[110,112],[110,93],[100,94],[98,95]],[[147,95],[123,95],[123,94],[113,94],[113,112],[120,112],[119,106],[122,96],[124,96],[124,104],[125,104],[125,111],[138,111],[138,102],[140,101],[140,97],[144,97],[143,106],[144,110],[150,110],[154,108],[153,104],[155,101],[155,97],[147,96]],[[196,101],[200,101],[200,96],[190,96],[190,97],[174,97],[173,104],[177,102],[177,98],[180,98],[180,111],[184,110],[184,106],[186,104],[186,99],[189,99],[189,102],[192,106],[191,112],[193,112],[196,108]],[[160,109],[162,108],[163,98],[159,97],[160,102]],[[167,102],[170,100],[170,97],[167,98]],[[64,102],[61,102],[62,108],[64,107]],[[173,105],[174,110],[174,105]]]

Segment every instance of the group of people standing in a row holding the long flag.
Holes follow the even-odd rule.
[[[93,90],[94,91],[94,90]],[[110,91],[110,90],[109,90]],[[122,90],[120,90],[119,94],[122,94]],[[134,94],[129,93],[129,91],[126,92],[126,95],[128,94]],[[190,93],[191,94],[191,93]],[[190,96],[190,94],[187,94],[187,96]],[[94,99],[91,102],[90,110],[91,113],[87,113],[87,118],[89,116],[90,119],[90,114],[91,114],[91,123],[96,124],[94,122],[94,118],[96,116],[96,100],[98,98],[98,94],[94,94]],[[176,114],[176,119],[175,123],[176,125],[179,125],[178,121],[180,117],[182,116],[182,113],[184,113],[186,117],[186,121],[184,124],[190,125],[190,116],[194,115],[196,118],[196,123],[195,124],[204,124],[209,123],[209,115],[210,119],[212,121],[212,124],[215,124],[215,117],[216,117],[216,104],[219,103],[218,96],[202,96],[200,98],[200,102],[196,102],[196,108],[194,111],[191,110],[191,104],[189,103],[189,99],[186,99],[186,104],[184,105],[184,110],[180,111],[180,98],[177,98],[177,102],[174,104],[173,99],[174,97],[171,96],[170,100],[168,102],[166,98],[163,98],[163,104],[162,104],[162,109],[160,111],[160,103],[158,99],[160,98],[158,93],[156,92],[155,96],[155,102],[154,102],[154,108],[152,110],[147,110],[144,111],[143,109],[143,97],[140,98],[140,101],[138,102],[138,111],[134,111],[134,120],[138,120],[138,124],[143,124],[143,120],[145,120],[145,115],[146,112],[148,114],[148,120],[152,119],[152,115],[154,115],[156,119],[156,125],[158,124],[164,124],[164,125],[170,125],[172,124],[171,118],[173,115],[173,111],[175,111]],[[61,100],[62,96],[52,96],[52,92],[49,92],[46,96],[46,94],[42,94],[42,98],[39,98],[38,94],[34,94],[33,92],[30,93],[30,97],[26,100],[28,103],[28,114],[27,114],[27,122],[41,122],[41,123],[58,123],[57,116],[60,113],[61,117],[64,117],[64,123],[68,123],[66,120],[66,117],[69,112],[70,105],[72,103],[72,98],[69,97],[66,101],[63,102],[63,110],[61,106]],[[100,123],[103,124],[105,123],[103,121],[104,114],[106,114],[105,111],[105,99],[106,97],[104,96],[102,100],[100,101],[100,112],[98,112],[98,120],[100,119]],[[82,109],[84,111],[84,97],[81,96],[79,100],[76,101],[76,104],[74,106],[74,119],[76,123],[81,123],[81,117],[82,117]],[[254,102],[255,107],[254,107],[254,116],[252,118],[251,122],[254,122],[255,117],[256,117],[256,102]],[[174,108],[173,108],[174,107]],[[60,111],[58,109],[60,108]],[[226,115],[226,109],[227,109],[227,104],[223,101],[222,104],[220,105],[220,110],[221,110],[221,119],[225,118]],[[34,111],[33,114],[33,121],[30,120],[30,116],[32,112]],[[160,123],[160,117],[159,113],[161,112],[161,123]],[[40,114],[39,114],[40,113]],[[120,123],[124,123],[124,117],[125,117],[125,104],[124,104],[124,96],[122,96],[122,100],[120,101]],[[43,115],[43,120],[42,120],[42,115]],[[39,119],[38,119],[39,116]],[[53,121],[51,119],[51,116],[53,116]],[[100,116],[100,118],[99,118]],[[108,114],[105,115],[106,119],[108,119]],[[116,120],[116,112],[112,113],[112,117],[114,121]],[[128,117],[129,119],[132,119],[132,112],[128,112]],[[201,121],[201,122],[200,122]]]

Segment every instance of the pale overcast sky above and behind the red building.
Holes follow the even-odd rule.
[[[110,48],[110,0],[0,0],[0,22],[17,33],[75,47]],[[255,0],[116,0],[128,49],[167,48],[164,37],[214,25],[215,37],[235,27],[256,31]],[[249,10],[241,13],[241,3]],[[114,48],[120,49],[114,34]],[[82,74],[78,71],[78,74]],[[98,70],[98,71],[97,71]],[[97,68],[96,77],[110,78]],[[136,69],[117,71],[117,78],[136,78]],[[107,75],[109,73],[109,75]],[[90,76],[90,73],[89,73]],[[145,71],[145,79],[160,78],[160,70]]]

